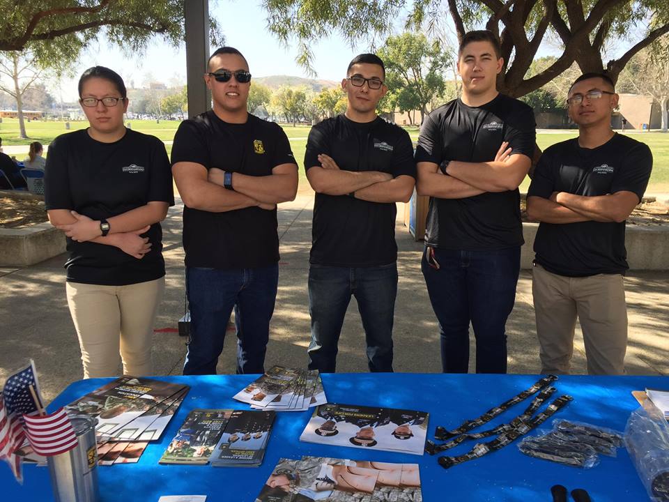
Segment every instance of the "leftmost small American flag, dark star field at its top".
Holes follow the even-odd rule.
[[[39,395],[32,360],[28,367],[8,377],[0,399],[0,459],[8,462],[19,482],[22,481],[21,457],[14,455],[14,451],[22,445],[26,437],[22,415],[38,413],[38,404],[30,393],[31,386],[36,395]],[[41,403],[39,405],[41,407]]]

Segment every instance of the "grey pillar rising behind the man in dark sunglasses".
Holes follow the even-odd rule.
[[[190,118],[211,108],[211,95],[203,79],[209,59],[209,0],[185,0],[184,15]]]

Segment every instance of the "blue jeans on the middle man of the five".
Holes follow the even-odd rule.
[[[397,296],[397,264],[348,268],[309,266],[312,342],[309,370],[332,373],[337,342],[351,295],[357,300],[372,372],[392,372],[392,323]]]

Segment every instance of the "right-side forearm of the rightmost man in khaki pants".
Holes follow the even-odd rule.
[[[555,194],[557,204],[597,222],[624,222],[639,203],[634,192],[621,190],[609,195],[587,197],[567,192]]]

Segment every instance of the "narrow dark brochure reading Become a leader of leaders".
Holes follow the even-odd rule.
[[[213,466],[259,466],[276,413],[274,411],[233,411],[225,432],[210,457]]]

